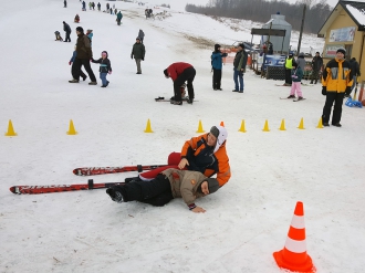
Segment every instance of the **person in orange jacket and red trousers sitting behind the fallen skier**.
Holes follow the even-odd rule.
[[[219,186],[222,187],[231,177],[229,158],[226,150],[227,129],[212,126],[209,133],[185,141],[181,153],[171,153],[167,166],[145,171],[129,180],[152,180],[167,168],[196,170],[206,177],[217,175]]]

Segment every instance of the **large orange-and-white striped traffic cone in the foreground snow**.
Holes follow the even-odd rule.
[[[314,273],[316,271],[311,256],[306,254],[304,209],[302,202],[296,202],[284,249],[274,252],[273,256],[281,269],[301,273]]]

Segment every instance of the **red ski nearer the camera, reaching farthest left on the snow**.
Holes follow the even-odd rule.
[[[94,183],[93,179],[88,179],[88,183],[12,186],[10,187],[10,191],[15,195],[40,195],[40,193],[52,193],[52,192],[62,192],[62,191],[104,189],[104,188],[109,188],[114,185],[124,185],[124,183],[125,182]]]

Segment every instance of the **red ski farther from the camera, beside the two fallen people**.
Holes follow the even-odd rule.
[[[76,176],[96,176],[96,175],[106,175],[106,174],[117,174],[126,171],[143,171],[143,170],[153,170],[159,167],[167,165],[137,165],[137,166],[124,166],[124,167],[83,167],[76,168],[73,170],[73,174]]]

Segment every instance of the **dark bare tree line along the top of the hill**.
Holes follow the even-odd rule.
[[[316,34],[332,12],[326,0],[298,0],[294,4],[282,0],[209,0],[206,7],[187,4],[185,10],[199,14],[263,23],[270,20],[271,14],[280,12],[280,14],[285,15],[285,21],[292,25],[293,30],[300,31],[304,4],[306,11],[303,31]]]

